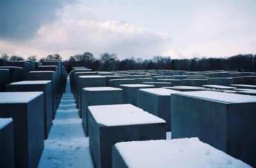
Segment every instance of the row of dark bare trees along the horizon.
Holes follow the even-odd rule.
[[[10,61],[24,60],[20,56],[8,57],[2,54],[1,58]],[[59,54],[48,55],[37,59],[36,56],[29,56],[26,60],[45,61],[45,59],[59,59]],[[108,52],[100,54],[97,59],[90,52],[70,56],[63,61],[67,72],[74,66],[84,66],[93,71],[117,71],[117,70],[186,70],[186,71],[207,71],[207,70],[237,70],[240,72],[256,72],[256,54],[238,54],[236,56],[215,58],[215,57],[194,57],[192,59],[172,59],[170,56],[154,56],[152,59],[135,59],[134,57],[118,59],[116,54]]]

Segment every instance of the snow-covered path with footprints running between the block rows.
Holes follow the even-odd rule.
[[[69,79],[38,167],[93,167],[89,138],[84,135]]]

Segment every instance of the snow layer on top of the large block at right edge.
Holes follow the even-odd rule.
[[[191,96],[194,98],[224,103],[256,103],[256,96],[221,93],[216,91],[186,91],[175,93],[175,95]]]

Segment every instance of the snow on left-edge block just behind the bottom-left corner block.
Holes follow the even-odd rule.
[[[1,92],[0,103],[28,103],[42,94],[42,91]]]

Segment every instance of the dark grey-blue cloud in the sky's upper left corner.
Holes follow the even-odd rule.
[[[35,36],[42,24],[56,19],[56,10],[63,8],[63,0],[1,0],[0,38],[24,40]]]

